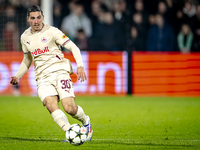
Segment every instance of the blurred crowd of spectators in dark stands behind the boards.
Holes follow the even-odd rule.
[[[31,5],[41,1],[0,0],[0,50],[21,49]],[[200,51],[199,0],[54,0],[52,11],[81,50]]]

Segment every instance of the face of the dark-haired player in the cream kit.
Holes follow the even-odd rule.
[[[33,32],[39,31],[42,28],[44,16],[39,11],[31,12],[30,16],[27,17],[27,21],[30,23]]]

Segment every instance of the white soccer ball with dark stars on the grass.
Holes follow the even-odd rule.
[[[87,132],[84,126],[73,124],[66,131],[66,139],[72,145],[82,145],[87,139]]]

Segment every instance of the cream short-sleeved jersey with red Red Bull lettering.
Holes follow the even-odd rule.
[[[60,48],[69,41],[59,29],[46,24],[37,32],[32,32],[31,27],[24,31],[21,35],[22,49],[33,56],[36,80],[58,70],[72,73],[71,63],[64,58]]]

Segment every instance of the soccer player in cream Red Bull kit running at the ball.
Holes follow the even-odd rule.
[[[63,32],[44,24],[43,20],[43,11],[39,6],[33,5],[28,9],[27,21],[30,27],[21,35],[24,58],[18,72],[11,77],[10,83],[17,85],[34,60],[38,96],[53,120],[64,131],[70,126],[67,116],[59,109],[58,102],[61,100],[65,112],[86,127],[87,141],[90,141],[93,133],[90,118],[74,102],[74,87],[70,78],[73,70],[70,61],[64,58],[60,46],[72,52],[77,63],[78,80],[83,82],[86,80],[86,74],[80,50]]]

